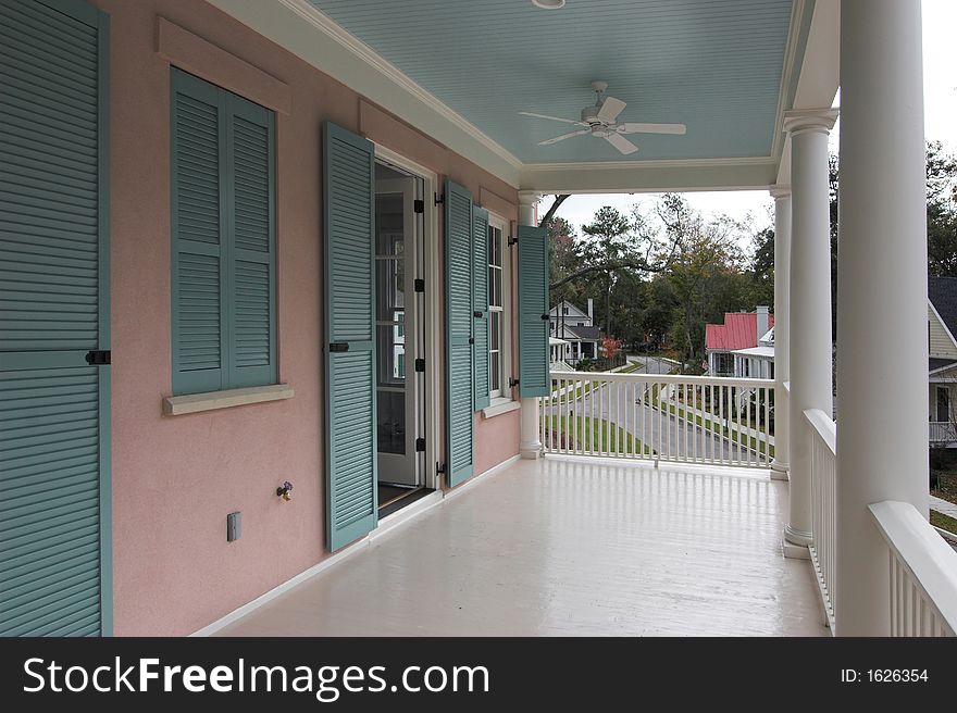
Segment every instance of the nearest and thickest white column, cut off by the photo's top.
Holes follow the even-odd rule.
[[[841,3],[837,570],[842,636],[890,633],[887,550],[867,506],[928,512],[921,11]]]

